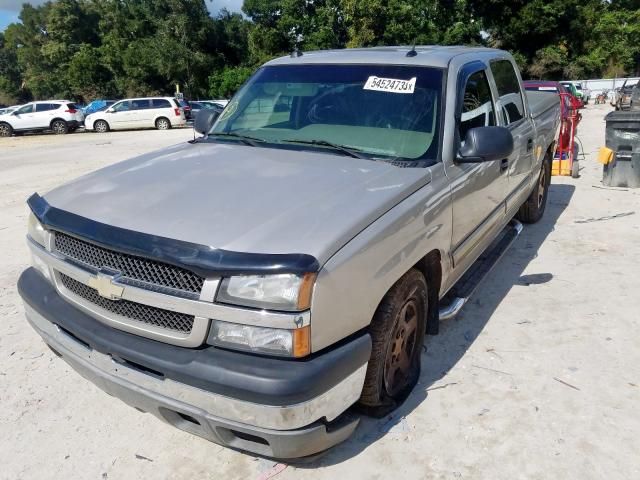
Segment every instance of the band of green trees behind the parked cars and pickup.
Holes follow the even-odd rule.
[[[0,33],[0,102],[229,97],[294,49],[467,44],[511,51],[525,77],[637,74],[638,0],[205,0],[25,3]]]

